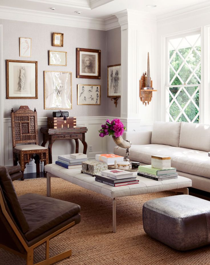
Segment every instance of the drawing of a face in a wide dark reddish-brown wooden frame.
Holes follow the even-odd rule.
[[[76,48],[76,78],[101,78],[101,51]]]

